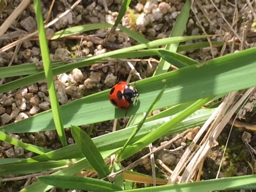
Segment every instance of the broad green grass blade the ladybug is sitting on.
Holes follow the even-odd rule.
[[[256,48],[251,48],[138,81],[136,88],[140,93],[139,102],[128,110],[127,115],[148,110],[165,84],[167,85],[166,90],[156,108],[174,106],[256,86],[254,81],[255,52]],[[241,79],[243,80],[241,81]],[[162,82],[162,80],[166,80],[166,82]],[[64,127],[69,127],[70,124],[78,126],[92,124],[99,122],[99,119],[105,121],[124,116],[123,111],[114,108],[110,104],[108,100],[109,91],[96,93],[61,106]],[[84,118],[85,116],[87,118]],[[38,127],[39,124],[40,127]],[[48,110],[15,124],[3,126],[1,131],[19,133],[52,129],[54,129],[52,111]]]

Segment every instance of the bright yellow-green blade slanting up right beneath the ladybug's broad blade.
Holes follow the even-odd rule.
[[[182,122],[185,118],[190,116],[192,113],[194,113],[198,108],[204,106],[208,101],[210,101],[213,97],[210,98],[204,98],[200,99],[185,110],[179,112],[174,118],[172,118],[170,121],[166,122],[165,124],[162,124],[160,127],[158,127],[156,130],[150,132],[143,138],[139,139],[138,141],[134,142],[132,145],[128,146],[126,150],[123,152],[122,156],[120,156],[120,161],[124,160],[136,152],[139,152],[141,149],[146,147],[148,144],[154,142],[161,136],[163,136],[166,132],[170,131],[170,128],[174,127],[176,124]]]

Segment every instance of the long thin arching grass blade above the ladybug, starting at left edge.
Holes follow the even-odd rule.
[[[195,39],[201,39],[201,38],[206,38],[206,37],[208,37],[208,36],[201,35],[201,36],[175,37],[175,38],[165,38],[165,39],[154,40],[154,41],[146,43],[146,44],[139,44],[139,45],[128,47],[128,48],[111,51],[111,52],[101,54],[98,56],[92,56],[92,57],[87,58],[82,61],[59,66],[59,67],[54,68],[52,70],[52,72],[53,72],[53,75],[56,76],[58,74],[62,74],[62,73],[71,71],[74,68],[90,66],[104,58],[108,58],[108,57],[113,58],[115,55],[120,55],[120,54],[126,53],[127,58],[134,58],[134,55],[129,52],[141,50],[141,49],[145,49],[145,48],[154,48],[156,46],[161,46],[161,45],[169,44],[169,43],[184,42],[184,41],[188,41],[188,40],[195,40]],[[44,79],[45,79],[45,74],[43,72],[39,72],[37,74],[33,74],[33,75],[30,75],[30,76],[27,76],[24,78],[20,78],[18,80],[14,80],[12,82],[0,85],[0,94],[8,92],[10,90],[14,90],[17,88],[21,88],[24,86],[34,84],[34,83],[39,82]]]

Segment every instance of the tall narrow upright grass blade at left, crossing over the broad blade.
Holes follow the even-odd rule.
[[[42,53],[42,60],[44,64],[44,72],[46,76],[47,86],[49,90],[50,102],[52,107],[53,120],[56,126],[57,133],[60,137],[60,141],[63,146],[67,146],[63,120],[60,113],[59,101],[56,94],[56,89],[53,80],[52,65],[50,62],[50,54],[48,49],[48,43],[46,40],[46,34],[44,29],[44,20],[42,16],[42,8],[40,0],[34,0],[35,12],[36,12],[36,22],[38,26],[40,50]]]

